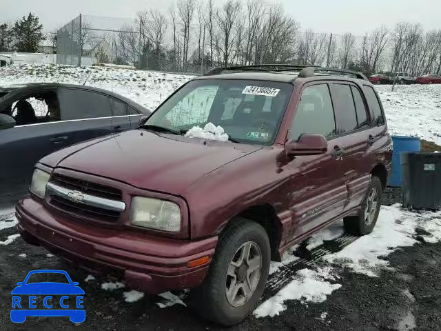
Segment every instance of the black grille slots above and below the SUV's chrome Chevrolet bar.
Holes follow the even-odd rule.
[[[109,199],[112,201],[122,200],[121,190],[92,183],[90,181],[66,177],[61,174],[52,174],[50,183],[59,185],[67,190],[79,191],[81,194],[88,194],[94,197]],[[74,214],[75,216],[107,223],[115,223],[121,216],[121,212],[119,211],[108,210],[106,208],[96,207],[94,205],[75,202],[57,194],[50,194],[48,203],[52,205],[52,207],[57,208],[57,210],[68,212],[70,214]]]

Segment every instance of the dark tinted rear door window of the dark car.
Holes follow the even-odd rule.
[[[86,90],[61,88],[61,120],[112,117],[110,97]]]

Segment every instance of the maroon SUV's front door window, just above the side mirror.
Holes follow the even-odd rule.
[[[296,141],[304,133],[322,134],[326,138],[336,134],[336,119],[327,84],[309,86],[302,92],[290,138]]]

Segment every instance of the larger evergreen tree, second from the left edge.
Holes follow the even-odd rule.
[[[37,52],[39,43],[45,40],[43,25],[32,12],[27,18],[23,16],[20,21],[15,22],[12,32],[15,38],[15,48],[18,52]]]

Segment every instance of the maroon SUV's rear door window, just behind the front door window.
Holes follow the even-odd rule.
[[[351,132],[357,129],[356,108],[353,103],[351,86],[333,84],[334,106],[340,121],[339,133]]]

